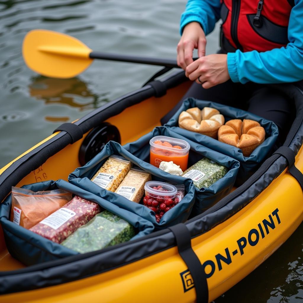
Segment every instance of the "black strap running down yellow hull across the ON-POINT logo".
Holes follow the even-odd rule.
[[[190,271],[191,277],[195,283],[197,302],[208,303],[208,286],[206,275],[200,260],[191,247],[191,237],[188,228],[183,223],[169,227],[173,232],[178,251]]]

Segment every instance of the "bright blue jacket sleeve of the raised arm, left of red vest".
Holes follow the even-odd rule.
[[[190,22],[199,22],[205,35],[213,31],[220,18],[220,0],[188,0],[185,12],[181,15],[180,33]]]

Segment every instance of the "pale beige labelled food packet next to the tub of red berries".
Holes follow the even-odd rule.
[[[139,169],[131,168],[115,193],[126,199],[139,203],[144,195],[144,185],[151,180],[151,174]]]

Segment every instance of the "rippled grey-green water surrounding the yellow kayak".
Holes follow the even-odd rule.
[[[175,58],[185,3],[0,1],[0,167],[50,135],[58,125],[140,88],[159,70],[148,65],[95,61],[77,78],[45,78],[23,62],[21,46],[28,31],[44,28],[63,32],[95,51]],[[208,36],[207,53],[217,49],[218,27]],[[302,302],[302,232],[303,225],[273,256],[215,302]]]

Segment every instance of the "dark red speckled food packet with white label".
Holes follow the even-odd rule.
[[[97,203],[75,196],[64,207],[58,209],[29,230],[60,244],[100,211],[101,208]]]

